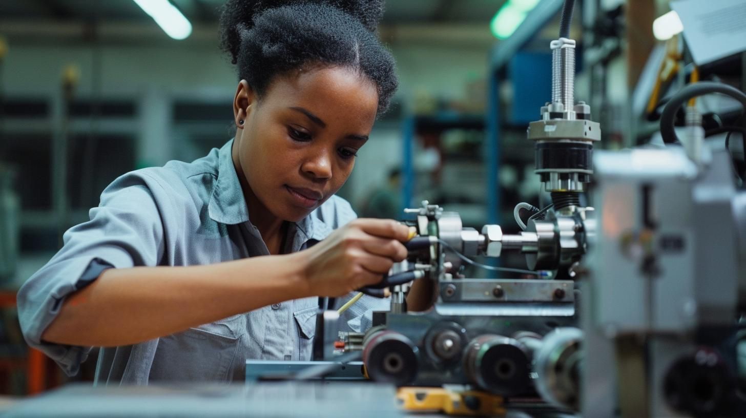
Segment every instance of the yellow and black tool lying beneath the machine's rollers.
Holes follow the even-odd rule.
[[[442,387],[400,387],[396,398],[404,411],[443,412],[448,415],[505,415],[503,397],[492,393],[466,390],[457,392]]]

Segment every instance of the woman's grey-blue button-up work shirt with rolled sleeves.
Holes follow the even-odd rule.
[[[90,210],[90,221],[66,231],[60,252],[19,290],[28,344],[69,375],[78,372],[91,347],[48,343],[41,335],[65,297],[95,280],[101,266],[194,266],[269,255],[248,219],[232,145],[192,163],[129,172],[110,184],[98,208]],[[288,228],[284,251],[305,249],[355,217],[348,202],[332,196]],[[315,297],[289,300],[132,346],[102,348],[95,381],[227,381],[242,378],[247,358],[310,360],[318,306]],[[388,299],[363,296],[340,318],[340,331],[364,331],[373,310],[388,309]]]

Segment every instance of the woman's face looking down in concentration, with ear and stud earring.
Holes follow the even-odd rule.
[[[245,81],[233,110],[233,164],[249,212],[298,222],[329,199],[352,172],[378,106],[372,81],[330,67],[278,77],[258,99]],[[239,121],[243,120],[243,124]]]

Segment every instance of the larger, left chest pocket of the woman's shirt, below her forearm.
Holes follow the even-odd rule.
[[[238,352],[245,315],[161,337],[150,381],[228,381]]]

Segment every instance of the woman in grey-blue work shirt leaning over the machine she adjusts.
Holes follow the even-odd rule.
[[[234,139],[110,184],[19,291],[28,343],[71,375],[104,347],[100,384],[309,360],[318,296],[344,302],[407,255],[406,226],[353,220],[333,196],[397,86],[373,32],[382,13],[375,0],[228,1]],[[366,296],[342,325],[363,330],[386,308]]]

